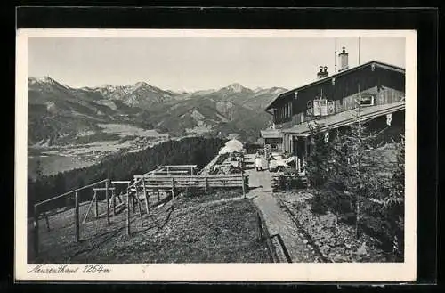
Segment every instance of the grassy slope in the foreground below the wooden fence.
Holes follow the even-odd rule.
[[[125,235],[125,212],[81,225],[80,244],[73,242],[72,210],[50,217],[53,227],[46,232],[41,221],[41,259],[46,263],[264,263],[267,248],[256,240],[255,208],[250,200],[216,205],[215,199],[239,197],[238,191],[223,191],[199,198],[179,198],[168,217],[170,204],[155,209],[152,217],[133,216],[133,236]],[[201,203],[202,205],[198,205]],[[190,207],[195,207],[191,208]],[[85,206],[82,207],[85,210]],[[102,205],[102,208],[103,205]],[[133,214],[133,213],[132,213]],[[81,213],[81,215],[83,215]],[[57,219],[57,220],[56,220]],[[157,221],[155,222],[153,221]],[[57,222],[56,222],[57,221]],[[93,225],[95,227],[93,227]],[[29,225],[30,227],[30,225]],[[159,229],[160,227],[160,229]],[[32,234],[28,234],[31,240]],[[28,257],[32,261],[32,242]]]

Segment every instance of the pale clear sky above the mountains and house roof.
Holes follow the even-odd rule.
[[[30,37],[28,76],[49,76],[72,87],[134,85],[165,90],[295,88],[334,73],[335,48],[359,64],[358,37]],[[361,37],[360,64],[384,61],[405,68],[404,37]],[[337,59],[337,68],[338,68]]]

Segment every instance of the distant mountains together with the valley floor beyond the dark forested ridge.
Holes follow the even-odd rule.
[[[271,121],[263,109],[284,88],[174,93],[145,82],[73,88],[51,77],[28,78],[28,175],[99,163],[187,136],[238,135],[255,142]]]

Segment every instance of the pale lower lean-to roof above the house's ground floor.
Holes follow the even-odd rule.
[[[363,107],[360,113],[360,119],[362,121],[368,121],[386,114],[391,114],[393,112],[405,110],[405,102],[392,102],[389,104],[377,105]],[[356,111],[346,110],[326,118],[320,121],[320,130],[335,129],[341,126],[351,125],[355,121]],[[296,126],[292,126],[287,129],[282,130],[283,134],[296,134],[297,136],[308,136],[312,134],[308,123],[301,123]]]

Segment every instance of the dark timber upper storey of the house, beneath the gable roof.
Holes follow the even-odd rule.
[[[374,95],[378,105],[400,102],[404,93],[404,69],[371,61],[280,94],[266,110],[273,114],[276,125],[286,128],[308,121],[311,117],[307,115],[307,104],[320,97],[335,103],[331,113],[335,114],[353,109],[353,101],[359,94]]]

